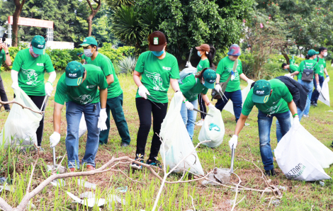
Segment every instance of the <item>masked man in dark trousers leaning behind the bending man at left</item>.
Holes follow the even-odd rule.
[[[101,67],[106,81],[108,81],[108,101],[106,101],[106,119],[107,130],[103,130],[99,135],[99,143],[108,143],[108,134],[110,131],[110,110],[115,120],[119,135],[121,137],[121,147],[127,147],[130,144],[130,131],[128,130],[128,123],[125,120],[123,112],[123,90],[120,87],[119,80],[115,74],[115,69],[111,60],[98,52],[97,41],[93,37],[84,38],[81,44],[84,47],[84,54],[89,59],[86,59],[88,64],[94,64]]]

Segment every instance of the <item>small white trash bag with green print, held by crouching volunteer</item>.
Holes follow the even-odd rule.
[[[198,139],[200,142],[210,140],[210,142],[203,143],[208,147],[218,147],[223,142],[225,124],[218,108],[208,110],[208,114],[213,115],[213,117],[210,115],[205,116]]]

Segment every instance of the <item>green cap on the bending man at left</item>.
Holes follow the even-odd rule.
[[[66,67],[65,82],[67,86],[79,86],[82,84],[84,67],[80,62],[69,62]]]

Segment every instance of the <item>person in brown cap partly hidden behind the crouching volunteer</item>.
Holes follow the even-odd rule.
[[[213,58],[215,56],[215,47],[213,45],[208,44],[202,44],[198,47],[196,47],[196,50],[198,50],[198,56],[201,57],[201,60],[196,67],[197,72],[201,72],[205,68],[209,67],[215,67],[213,64]],[[190,62],[186,62],[186,67],[192,67]],[[201,111],[204,113],[207,113],[207,109],[205,107],[205,101],[203,101],[203,98],[201,98],[201,94],[198,94],[198,104]],[[205,114],[200,113],[201,120],[196,122],[196,125],[202,126],[203,121],[205,120]]]

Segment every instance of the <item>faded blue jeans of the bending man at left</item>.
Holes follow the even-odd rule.
[[[66,103],[66,119],[67,119],[67,137],[66,149],[69,168],[80,168],[79,164],[79,123],[82,113],[86,120],[86,128],[88,135],[86,137],[86,153],[82,159],[82,164],[95,166],[95,156],[99,144],[99,128],[98,117],[101,106],[99,103],[88,103],[79,105],[68,101]]]

